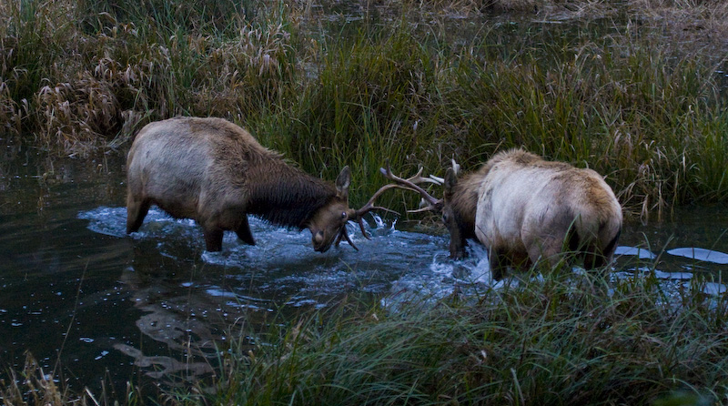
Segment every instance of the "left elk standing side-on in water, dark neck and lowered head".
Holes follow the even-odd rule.
[[[372,209],[349,208],[351,171],[331,185],[288,165],[242,127],[215,117],[175,117],[142,128],[126,157],[126,233],[137,231],[151,205],[201,226],[208,251],[222,249],[225,230],[249,245],[248,214],[288,227],[308,228],[313,249],[327,251],[349,239],[346,224]]]

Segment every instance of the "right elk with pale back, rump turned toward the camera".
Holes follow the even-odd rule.
[[[488,249],[495,280],[509,267],[530,267],[539,259],[555,266],[567,252],[586,269],[603,267],[622,230],[622,207],[597,172],[522,149],[498,153],[460,178],[448,168],[441,199],[394,176],[389,166],[381,171],[399,188],[419,192],[427,209],[442,213],[451,258],[463,258],[466,239],[478,239]]]

